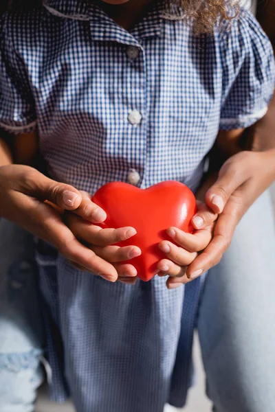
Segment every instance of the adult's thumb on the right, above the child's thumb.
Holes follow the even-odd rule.
[[[230,196],[247,179],[245,174],[236,170],[233,163],[225,163],[219,172],[217,181],[206,192],[206,205],[215,213],[221,214]]]

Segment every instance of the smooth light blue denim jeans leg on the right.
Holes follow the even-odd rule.
[[[198,330],[215,412],[275,412],[273,222],[265,192],[206,279]]]

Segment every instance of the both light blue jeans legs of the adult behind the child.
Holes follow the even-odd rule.
[[[207,393],[216,412],[275,412],[272,222],[266,192],[245,214],[230,249],[206,278],[198,330]],[[32,412],[43,380],[32,236],[5,220],[0,220],[0,234],[0,411]]]

